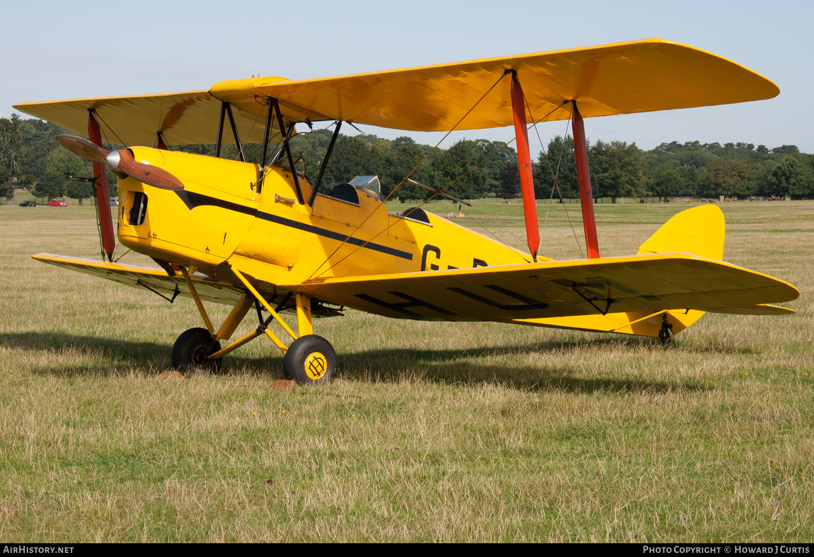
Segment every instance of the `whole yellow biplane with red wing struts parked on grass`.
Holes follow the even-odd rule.
[[[599,257],[584,117],[770,99],[777,86],[747,68],[659,38],[421,68],[290,81],[256,77],[209,90],[20,103],[17,110],[90,139],[59,143],[94,162],[98,205],[107,207],[105,165],[119,180],[120,244],[161,269],[112,261],[112,216],[99,211],[103,260],[33,257],[195,300],[206,328],[182,333],[172,362],[216,371],[221,358],[258,336],[285,354],[300,383],[335,375],[330,343],[312,318],[343,308],[390,318],[509,322],[669,339],[704,312],[790,314],[791,284],[724,261],[724,217],[700,206],[672,217],[636,255]],[[538,254],[540,236],[529,123],[571,119],[587,259]],[[99,121],[133,147],[103,148]],[[224,136],[226,121],[227,129]],[[316,180],[298,169],[295,124],[335,121]],[[264,124],[265,122],[265,124]],[[322,187],[342,122],[414,131],[514,125],[528,252],[420,208],[388,213],[375,177]],[[276,153],[269,145],[278,141]],[[216,156],[168,145],[214,143]],[[234,143],[239,160],[220,158]],[[243,145],[260,143],[260,164]],[[156,147],[136,147],[155,145]],[[411,173],[405,176],[410,178]],[[443,188],[430,196],[449,196]],[[204,302],[234,307],[215,328]],[[257,325],[225,347],[247,314]],[[280,314],[296,314],[296,331]],[[278,324],[278,336],[270,327]],[[290,343],[282,338],[291,337]]]

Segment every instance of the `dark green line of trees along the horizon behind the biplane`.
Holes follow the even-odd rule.
[[[80,202],[90,199],[93,195],[90,182],[68,178],[90,178],[90,162],[73,155],[55,140],[58,134],[71,133],[37,119],[24,120],[17,115],[0,118],[0,187],[8,204],[14,202],[14,192],[21,189],[48,199],[63,195]],[[313,182],[330,135],[330,129],[313,131],[291,140],[297,165]],[[215,152],[213,145],[171,148],[210,156]],[[247,160],[260,162],[259,144],[245,145],[244,152]],[[237,148],[225,145],[221,156],[236,159]],[[579,196],[570,135],[551,139],[532,164],[538,199],[551,195]],[[597,197],[814,196],[814,155],[802,153],[794,145],[769,149],[765,145],[755,147],[753,143],[674,141],[644,151],[636,143],[597,140],[589,143],[589,164],[593,194]],[[426,189],[405,182],[408,174],[417,182],[435,189],[446,188],[445,191],[465,200],[488,196],[510,199],[520,195],[517,151],[511,145],[488,139],[462,139],[449,148],[432,150],[431,146],[416,143],[407,136],[391,140],[374,135],[339,134],[322,178],[322,191],[358,174],[378,175],[383,195],[392,194],[393,199],[404,202],[431,195]],[[107,182],[115,197],[116,178],[112,173],[108,173]]]

